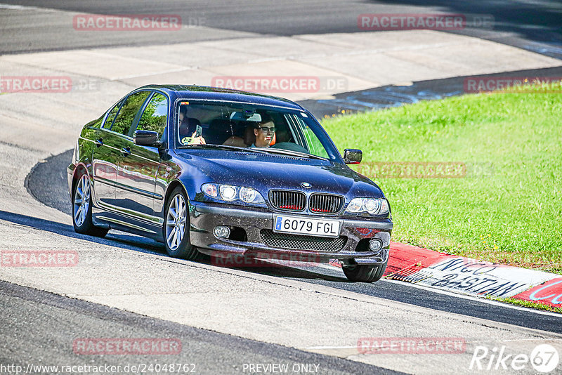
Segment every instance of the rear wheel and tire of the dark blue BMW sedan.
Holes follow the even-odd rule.
[[[81,201],[77,204],[77,198],[80,198],[80,192]],[[96,227],[96,225],[92,223],[91,197],[89,176],[86,172],[81,171],[78,175],[77,183],[74,184],[74,189],[72,190],[72,225],[74,225],[74,231],[82,235],[105,237],[107,232],[109,232],[109,228]],[[84,202],[84,204],[82,204],[82,202]],[[85,212],[84,216],[81,216],[82,212]]]

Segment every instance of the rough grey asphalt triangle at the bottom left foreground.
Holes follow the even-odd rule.
[[[289,367],[299,364],[322,364],[322,374],[400,374],[397,371],[381,369],[338,357],[303,352],[284,346],[259,341],[251,341],[235,336],[218,334],[204,329],[186,327],[163,320],[155,320],[142,315],[126,313],[114,308],[87,303],[77,299],[48,294],[15,284],[0,282],[1,324],[13,324],[19,316],[13,331],[0,332],[1,341],[18,353],[18,362],[4,352],[0,354],[1,363],[11,362],[22,367],[27,364],[53,365],[53,358],[65,365],[81,365],[83,360],[74,353],[60,350],[65,342],[74,337],[107,337],[116,331],[126,331],[132,337],[174,337],[181,339],[183,355],[160,358],[162,362],[189,364],[196,373],[224,374],[230,368],[242,371],[244,363],[286,363]],[[22,313],[25,312],[25,313]],[[44,322],[51,324],[44,324]],[[39,329],[37,329],[40,327]],[[30,338],[33,338],[31,340]],[[212,360],[209,360],[212,358]],[[126,360],[119,356],[107,356],[109,366],[150,363],[150,356],[135,355]],[[197,369],[197,364],[205,363],[205,369]],[[195,366],[192,367],[192,365]],[[319,370],[320,371],[320,370]],[[34,371],[36,372],[36,371]],[[56,371],[37,371],[56,372]],[[188,371],[185,371],[188,372]]]

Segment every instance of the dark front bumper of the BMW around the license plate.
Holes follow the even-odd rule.
[[[276,214],[263,209],[239,207],[227,204],[190,202],[190,242],[205,254],[228,256],[233,254],[256,258],[275,258],[294,261],[327,262],[337,259],[348,263],[377,265],[388,261],[393,223],[390,219],[367,221],[360,218],[334,216],[299,215],[307,218],[329,218],[342,221],[339,239],[285,235],[273,232]],[[226,225],[234,230],[242,228],[243,238],[224,239],[216,237],[217,225]],[[370,251],[370,239],[380,239],[380,251]],[[361,242],[361,240],[364,240]],[[315,243],[315,241],[318,241]],[[343,244],[342,244],[343,242]],[[302,246],[301,246],[302,244]]]

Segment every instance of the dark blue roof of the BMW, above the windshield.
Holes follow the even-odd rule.
[[[189,98],[192,100],[223,100],[226,102],[255,103],[259,105],[271,105],[286,107],[295,110],[304,110],[303,107],[292,100],[268,96],[260,93],[249,93],[247,91],[231,90],[229,88],[196,86],[196,85],[147,85],[140,89],[158,89],[168,93],[170,98]]]

